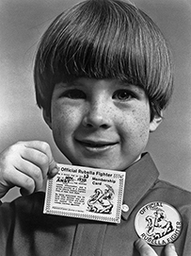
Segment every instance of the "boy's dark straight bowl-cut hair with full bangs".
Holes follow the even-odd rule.
[[[142,88],[151,119],[172,94],[171,53],[151,18],[130,2],[87,0],[59,14],[43,34],[34,79],[38,106],[51,110],[58,82],[115,78]]]

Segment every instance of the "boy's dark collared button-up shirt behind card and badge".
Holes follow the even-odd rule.
[[[120,224],[43,214],[44,193],[19,197],[0,207],[0,255],[138,256],[135,214],[145,204],[164,201],[183,218],[175,242],[179,256],[191,255],[191,193],[158,179],[149,154],[126,170]],[[164,255],[164,247],[154,247]]]

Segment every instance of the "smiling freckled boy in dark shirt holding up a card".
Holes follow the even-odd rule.
[[[44,33],[34,77],[43,118],[72,164],[126,172],[121,222],[43,214],[38,191],[56,162],[46,143],[17,143],[0,157],[0,196],[15,185],[23,195],[0,207],[1,255],[188,256],[191,194],[159,180],[143,153],[172,93],[170,53],[151,19],[121,1],[79,3]],[[183,219],[178,254],[171,243],[153,250],[137,240],[135,216],[161,201]],[[157,211],[164,223],[166,211]]]

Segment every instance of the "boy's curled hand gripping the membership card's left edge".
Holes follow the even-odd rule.
[[[14,186],[21,187],[22,195],[41,189],[47,175],[57,173],[50,145],[45,142],[19,142],[0,154],[0,198]]]

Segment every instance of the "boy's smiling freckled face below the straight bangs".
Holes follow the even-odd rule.
[[[72,164],[115,170],[140,157],[159,125],[145,92],[115,79],[56,84],[51,116],[45,121]]]

